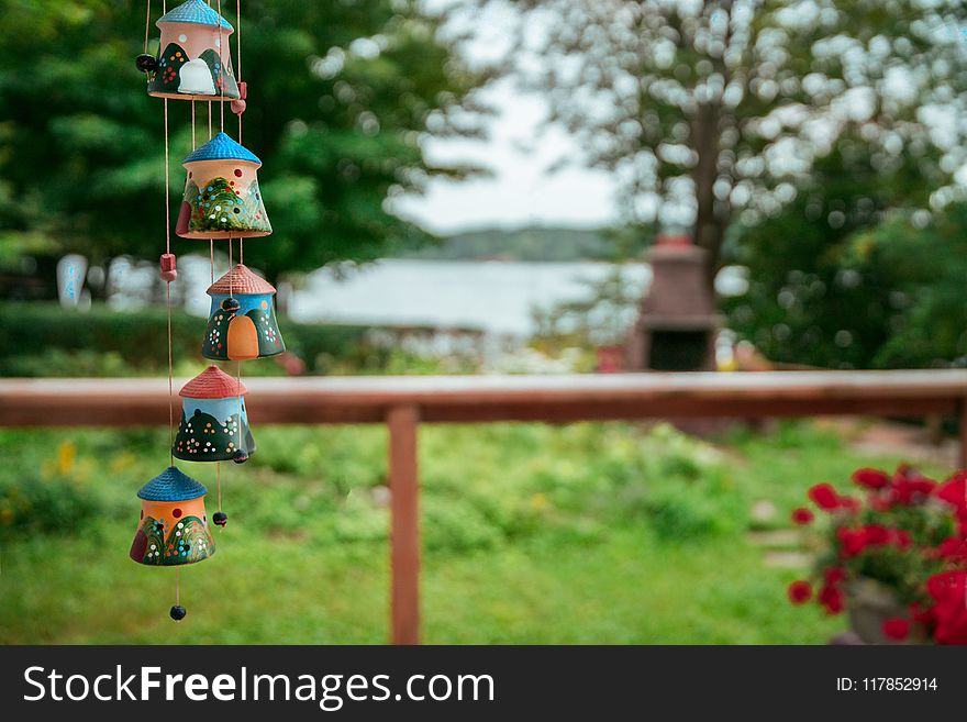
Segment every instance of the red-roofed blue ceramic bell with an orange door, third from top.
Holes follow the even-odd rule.
[[[271,284],[242,264],[212,284],[201,355],[214,360],[248,360],[286,351],[276,322],[275,292]]]

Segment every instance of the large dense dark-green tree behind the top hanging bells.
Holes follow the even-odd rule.
[[[234,3],[222,4],[235,24]],[[429,163],[421,137],[481,132],[471,91],[482,78],[444,40],[445,18],[418,0],[246,0],[242,11],[242,140],[265,164],[275,227],[246,244],[246,260],[276,278],[422,237],[388,200],[470,169]],[[0,227],[43,233],[95,264],[164,249],[163,101],[146,96],[134,65],[144,20],[143,7],[113,0],[0,0]],[[199,143],[207,110],[196,103]],[[168,102],[173,230],[190,112],[188,101]],[[224,116],[235,136],[227,107]],[[173,243],[178,253],[200,247]]]

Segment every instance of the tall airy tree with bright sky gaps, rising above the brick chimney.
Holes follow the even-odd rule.
[[[851,129],[879,167],[910,147],[932,189],[963,165],[963,3],[516,5],[504,69],[546,93],[549,120],[579,140],[578,160],[625,181],[635,218],[693,225],[710,279],[730,224],[754,225],[792,201]]]

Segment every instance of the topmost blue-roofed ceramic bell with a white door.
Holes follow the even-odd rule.
[[[162,31],[160,53],[144,68],[151,73],[148,95],[182,100],[241,97],[229,47],[233,27],[207,2],[188,0],[156,24]]]

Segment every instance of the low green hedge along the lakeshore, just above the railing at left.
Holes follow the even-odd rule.
[[[293,323],[280,319],[286,347],[309,371],[365,355],[366,326]],[[201,359],[205,320],[176,311],[171,316],[176,363]],[[0,376],[122,376],[167,367],[164,308],[132,312],[96,306],[89,311],[55,303],[0,303]],[[259,365],[271,373],[276,364]]]

